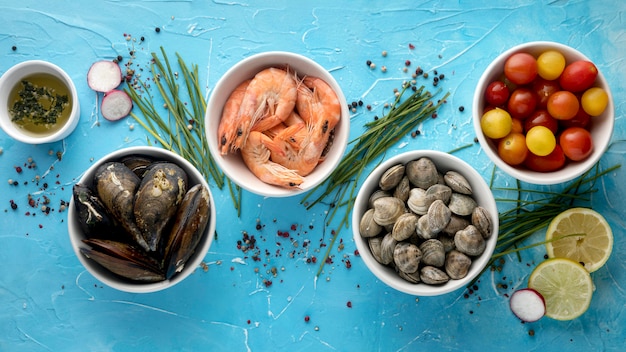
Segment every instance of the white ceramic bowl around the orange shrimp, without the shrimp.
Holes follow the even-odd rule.
[[[315,76],[328,83],[337,94],[341,103],[341,120],[335,127],[335,137],[324,162],[305,177],[299,189],[286,189],[267,184],[258,179],[244,164],[239,153],[221,155],[219,152],[217,129],[222,116],[224,104],[230,93],[241,82],[254,77],[255,74],[268,67],[282,67],[288,65],[299,76]],[[205,118],[205,133],[209,150],[213,158],[233,182],[242,188],[266,197],[293,196],[322,183],[339,164],[348,142],[350,130],[350,115],[346,98],[333,76],[315,61],[290,52],[265,52],[250,56],[230,68],[217,82],[207,104]]]

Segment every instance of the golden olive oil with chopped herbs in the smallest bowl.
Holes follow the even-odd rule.
[[[9,95],[12,122],[31,136],[46,136],[60,130],[69,119],[71,110],[69,88],[48,73],[24,77]]]

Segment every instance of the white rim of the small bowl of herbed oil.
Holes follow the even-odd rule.
[[[0,118],[0,126],[10,137],[23,143],[44,144],[59,141],[72,133],[72,131],[76,128],[76,125],[78,124],[78,120],[80,119],[80,102],[78,100],[78,92],[76,90],[76,86],[74,85],[74,81],[61,67],[52,62],[44,60],[22,61],[13,65],[4,74],[2,74],[2,77],[0,77],[0,87],[4,86],[5,84],[9,84],[9,82],[7,82],[8,80],[17,82],[19,78],[14,80],[14,76],[21,73],[22,71],[28,71],[31,68],[37,69],[37,71],[33,71],[32,73],[44,70],[43,72],[57,76],[63,81],[63,83],[67,85],[70,94],[72,95],[72,111],[70,111],[68,121],[61,129],[59,129],[55,133],[41,137],[27,135],[21,132],[13,125],[11,121],[5,120],[4,118]],[[32,73],[27,73],[26,75],[30,75]],[[24,77],[26,75],[20,75],[19,77]],[[11,84],[11,87],[6,87],[7,92],[10,92],[15,82]]]

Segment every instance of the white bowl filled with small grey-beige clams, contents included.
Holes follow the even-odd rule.
[[[496,245],[498,209],[482,176],[465,161],[414,150],[378,165],[352,212],[353,237],[368,269],[416,296],[465,287]]]

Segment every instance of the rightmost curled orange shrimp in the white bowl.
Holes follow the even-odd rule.
[[[306,77],[303,83],[298,87],[296,108],[305,124],[304,138],[294,138],[299,132],[298,128],[286,128],[267,146],[271,151],[272,161],[306,176],[323,160],[322,153],[341,118],[341,104],[324,80]],[[299,139],[298,145],[294,146],[291,141]]]

